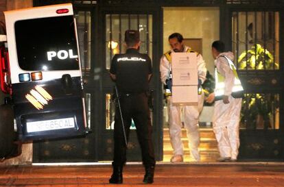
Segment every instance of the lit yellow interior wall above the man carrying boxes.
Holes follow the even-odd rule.
[[[184,38],[201,38],[203,58],[214,75],[211,43],[220,37],[219,8],[164,8],[163,15],[163,51],[170,49],[167,38],[174,32],[179,32]]]

